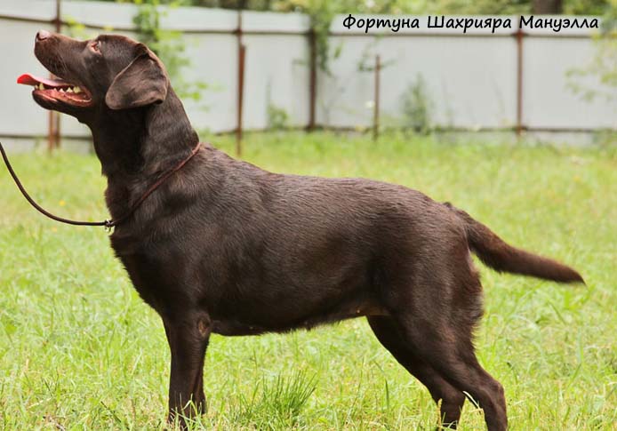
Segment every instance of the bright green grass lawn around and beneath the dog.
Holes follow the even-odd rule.
[[[231,151],[230,138],[213,138]],[[578,268],[559,285],[482,267],[477,355],[506,388],[512,429],[617,429],[617,155],[601,148],[454,146],[429,139],[255,134],[244,158],[276,172],[361,176],[451,201],[510,243]],[[13,156],[52,212],[104,219],[94,156]],[[0,169],[0,423],[4,429],[164,426],[163,326],[102,228],[36,213]],[[215,429],[432,429],[426,389],[364,320],[287,335],[212,336]],[[483,429],[465,404],[461,429]]]

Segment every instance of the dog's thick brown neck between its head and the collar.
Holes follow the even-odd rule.
[[[159,105],[106,109],[88,125],[110,185],[148,181],[188,156],[199,141],[171,87]]]

